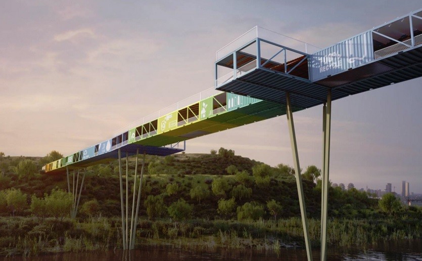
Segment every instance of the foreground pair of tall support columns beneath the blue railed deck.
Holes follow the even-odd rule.
[[[287,121],[289,124],[290,142],[292,146],[293,162],[296,173],[296,185],[298,188],[300,213],[302,216],[303,234],[305,237],[306,254],[308,260],[312,260],[311,241],[309,237],[308,219],[306,216],[305,197],[303,193],[302,177],[300,173],[299,155],[296,143],[295,125],[293,122],[293,109],[290,95],[286,93]],[[331,90],[327,93],[327,102],[323,105],[322,114],[322,189],[321,189],[321,260],[326,260],[326,234],[327,234],[327,205],[330,169],[330,132],[331,132]]]

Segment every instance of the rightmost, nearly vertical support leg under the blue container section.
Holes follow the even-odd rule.
[[[324,172],[322,177],[323,191],[321,206],[321,260],[326,260],[326,244],[327,244],[327,209],[328,209],[328,187],[330,173],[330,137],[331,137],[331,90],[327,94],[327,108],[325,112],[325,135],[324,135]],[[321,203],[322,204],[322,203]]]

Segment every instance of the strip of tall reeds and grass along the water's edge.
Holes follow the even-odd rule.
[[[86,220],[0,218],[0,255],[35,256],[41,253],[81,252],[121,249],[121,221],[117,218]],[[314,247],[319,246],[319,220],[309,220]],[[329,222],[329,245],[357,247],[388,240],[422,238],[419,220],[390,218],[379,220],[334,219]],[[277,251],[304,245],[299,218],[258,220],[139,220],[136,248],[143,246],[210,251],[216,248]]]

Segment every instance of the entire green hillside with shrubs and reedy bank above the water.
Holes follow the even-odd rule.
[[[117,161],[86,169],[78,214],[71,219],[66,175],[39,173],[43,164],[61,157],[57,151],[45,157],[0,152],[0,255],[122,248]],[[135,158],[129,158],[129,187],[134,164]],[[303,247],[292,167],[271,167],[224,148],[210,154],[147,156],[146,166],[136,246]],[[319,175],[315,166],[302,174],[315,247],[320,237]],[[331,186],[329,195],[330,245],[365,248],[380,240],[422,237],[421,207],[404,206],[392,194],[377,199],[354,188]]]

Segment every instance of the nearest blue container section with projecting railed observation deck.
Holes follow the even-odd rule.
[[[422,9],[319,49],[260,27],[217,51],[215,88],[305,109],[422,76]]]

